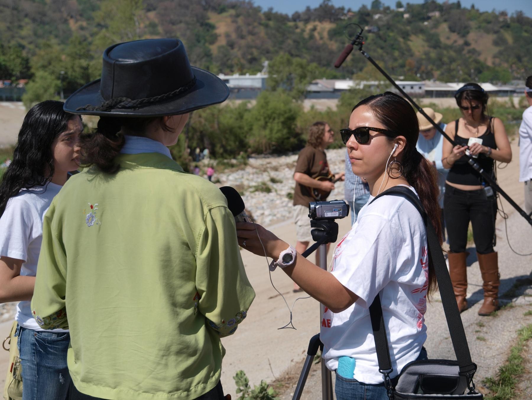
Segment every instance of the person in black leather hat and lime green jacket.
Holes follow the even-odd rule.
[[[115,44],[64,104],[99,116],[43,224],[32,314],[68,328],[73,399],[222,399],[220,338],[255,296],[218,187],[172,160],[189,113],[227,99],[178,39]]]

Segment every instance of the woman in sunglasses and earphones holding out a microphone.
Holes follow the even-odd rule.
[[[371,200],[390,187],[409,187],[437,230],[437,178],[415,148],[415,112],[394,93],[370,96],[355,105],[349,128],[340,134],[353,173],[368,182],[371,196],[351,231],[338,242],[330,272],[259,225],[260,240],[252,223],[238,223],[237,236],[246,250],[257,255],[265,251],[277,260],[292,280],[326,306],[320,338],[327,367],[336,371],[336,398],[386,399],[368,307],[380,295],[394,378],[406,363],[427,357],[423,315],[436,277],[428,263],[425,226],[414,206],[395,196]]]

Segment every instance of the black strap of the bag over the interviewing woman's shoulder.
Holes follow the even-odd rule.
[[[425,228],[427,230],[429,263],[434,265],[434,270],[436,272],[439,293],[442,298],[445,318],[447,320],[449,333],[451,334],[456,360],[460,366],[460,374],[464,376],[470,375],[472,377],[477,369],[477,366],[471,361],[471,354],[469,353],[469,346],[467,344],[467,338],[465,337],[462,319],[460,317],[460,312],[458,311],[458,305],[456,305],[456,298],[454,297],[451,277],[447,271],[442,247],[439,244],[438,235],[434,230],[434,226],[427,217],[421,201],[410,189],[408,189],[408,187],[391,187],[390,189],[385,190],[383,193],[377,195],[375,199],[371,200],[370,204],[383,195],[399,196],[410,201],[410,203],[412,203],[412,205],[418,209],[423,217],[423,223],[425,224]],[[373,300],[373,303],[369,307],[369,311],[371,317],[371,326],[373,329],[373,337],[375,338],[379,370],[391,372],[392,361],[390,360],[388,340],[386,338],[386,326],[384,326],[383,309],[380,306],[379,295],[377,295],[375,300]]]

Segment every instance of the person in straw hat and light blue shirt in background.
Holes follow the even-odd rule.
[[[445,130],[446,124],[441,123],[442,115],[439,112],[434,112],[433,109],[427,107],[423,111],[436,123],[440,128]],[[438,172],[438,189],[439,189],[439,206],[442,208],[442,237],[445,240],[445,218],[443,217],[443,195],[445,193],[445,180],[447,179],[448,169],[442,164],[442,149],[444,137],[439,133],[430,121],[421,115],[418,111],[415,113],[418,116],[419,122],[419,138],[415,148],[425,157],[430,164],[436,168]]]

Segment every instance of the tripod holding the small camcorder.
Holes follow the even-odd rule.
[[[333,219],[311,219],[310,226],[313,228],[311,231],[312,239],[315,240],[315,243],[306,249],[302,256],[309,256],[314,250],[320,249],[319,256],[319,267],[322,270],[327,271],[327,243],[334,243],[338,238],[338,224],[334,222]],[[325,306],[320,303],[320,316],[325,312]],[[315,334],[309,342],[309,348],[306,352],[305,363],[303,364],[303,370],[299,380],[297,381],[297,386],[294,391],[293,400],[299,400],[301,394],[303,393],[303,387],[305,386],[306,378],[309,376],[310,367],[312,366],[312,361],[314,356],[318,353],[318,348],[323,351],[323,344],[320,341],[320,334]],[[325,360],[321,359],[321,398],[322,400],[332,400],[332,377],[331,372],[327,369],[325,365]]]

